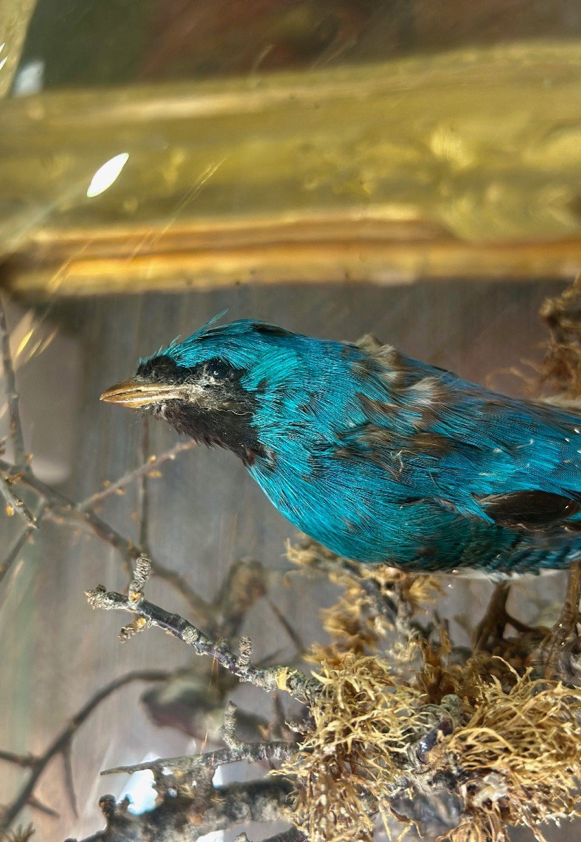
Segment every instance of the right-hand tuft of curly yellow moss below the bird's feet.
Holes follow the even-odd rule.
[[[452,842],[502,842],[507,826],[544,839],[539,825],[575,814],[581,781],[581,692],[512,672],[507,688],[480,678],[463,727],[435,749],[455,771],[466,819]],[[468,710],[466,711],[468,712]]]

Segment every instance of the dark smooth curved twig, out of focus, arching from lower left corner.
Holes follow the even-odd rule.
[[[36,786],[40,775],[42,775],[46,766],[50,763],[50,760],[53,759],[56,754],[62,754],[66,751],[66,748],[75,733],[77,733],[79,727],[81,727],[87,717],[92,714],[92,711],[94,711],[108,695],[111,695],[115,690],[119,690],[120,687],[124,687],[133,681],[162,681],[167,679],[170,674],[171,673],[161,669],[136,670],[133,673],[122,675],[119,679],[111,681],[110,684],[105,685],[101,688],[101,690],[98,690],[98,692],[95,693],[95,695],[93,695],[84,706],[82,706],[81,710],[77,711],[75,716],[71,717],[71,720],[62,729],[61,733],[57,734],[53,742],[50,743],[47,749],[45,749],[45,752],[36,757],[34,759],[34,763],[27,764],[31,770],[28,781],[24,783],[24,786],[22,786],[18,795],[13,799],[13,802],[0,811],[0,831],[8,829],[14,819],[18,816],[18,813],[20,813],[26,804],[29,803],[34,787]],[[24,755],[20,755],[20,759],[22,759],[23,756]],[[15,757],[18,757],[18,755],[10,756],[9,752],[0,754],[0,759],[6,759],[8,762],[17,762],[14,760]]]

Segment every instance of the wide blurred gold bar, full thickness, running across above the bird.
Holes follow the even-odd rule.
[[[18,290],[581,267],[581,44],[0,105]],[[128,152],[119,179],[92,175]]]

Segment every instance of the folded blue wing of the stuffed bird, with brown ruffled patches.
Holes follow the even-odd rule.
[[[358,396],[347,447],[383,466],[405,498],[544,529],[581,525],[581,420],[431,369],[388,399]]]

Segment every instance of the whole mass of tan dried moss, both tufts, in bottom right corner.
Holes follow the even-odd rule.
[[[378,813],[399,818],[393,796],[442,786],[463,803],[451,842],[504,842],[516,825],[543,839],[541,824],[573,816],[581,690],[499,658],[494,675],[486,656],[446,665],[449,653],[445,639],[424,646],[410,684],[377,656],[322,663],[312,730],[285,767],[297,780],[293,820],[311,842],[372,839]]]

